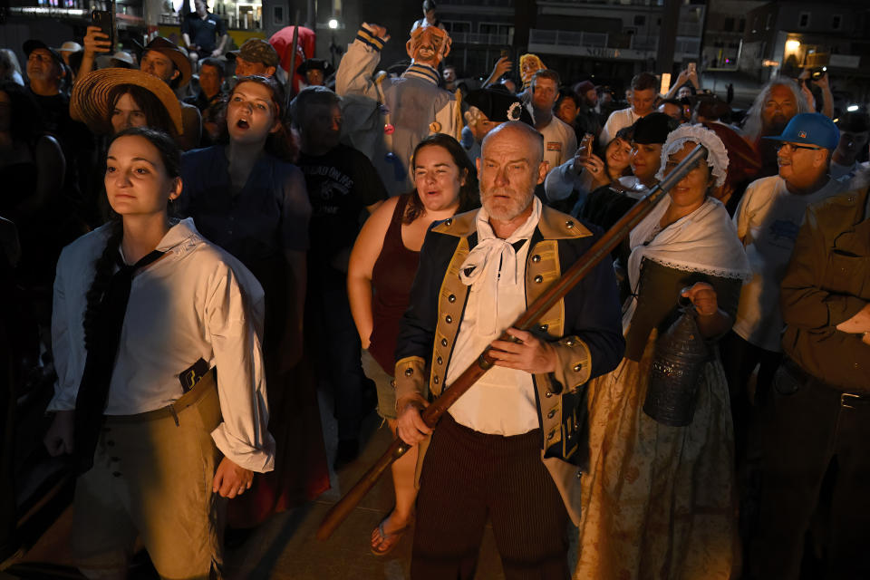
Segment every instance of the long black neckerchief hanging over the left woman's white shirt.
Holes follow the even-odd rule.
[[[127,314],[127,302],[133,274],[163,256],[154,250],[132,266],[127,266],[118,256],[119,269],[111,276],[106,292],[97,308],[93,336],[88,341],[88,356],[84,362],[82,382],[75,399],[74,443],[76,469],[84,473],[93,466],[93,453],[100,439],[102,422],[105,419],[106,400],[109,397],[111,373],[121,343],[121,329]]]

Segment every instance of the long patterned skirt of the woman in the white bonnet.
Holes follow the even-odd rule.
[[[718,357],[694,417],[670,427],[643,412],[655,333],[640,362],[590,382],[590,473],[575,580],[711,580],[739,572],[734,444]]]

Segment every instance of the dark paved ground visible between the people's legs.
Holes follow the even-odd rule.
[[[332,459],[337,443],[335,421],[331,412],[332,402],[321,395],[321,415],[324,424],[324,440],[327,452]],[[333,488],[317,500],[293,512],[278,514],[258,527],[241,546],[227,551],[227,573],[230,578],[267,578],[294,580],[331,580],[359,578],[364,580],[402,580],[409,578],[411,556],[411,534],[402,538],[399,546],[386,557],[372,556],[369,551],[369,537],[372,529],[392,506],[392,484],[389,478],[382,478],[372,492],[364,498],[360,506],[353,510],[327,542],[320,542],[314,534],[321,519],[333,503],[362,473],[379,458],[390,442],[390,432],[385,427],[378,429],[380,420],[372,412],[366,420],[364,430],[367,440],[362,448],[360,459],[346,466],[339,473],[332,472]],[[69,536],[70,510],[63,513],[24,556],[22,562],[48,565],[68,565],[69,551],[66,547]],[[11,575],[0,573],[6,578],[69,578],[69,569],[56,570],[56,575]],[[136,580],[156,577],[147,567],[140,568],[132,577]],[[480,553],[478,580],[498,580],[504,578],[493,536],[487,530]]]

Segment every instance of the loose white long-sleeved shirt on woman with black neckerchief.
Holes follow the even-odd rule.
[[[48,411],[75,409],[87,358],[86,295],[110,235],[104,226],[80,237],[58,262],[52,316],[58,381]],[[235,257],[200,237],[192,218],[171,227],[157,249],[166,255],[133,277],[106,414],[155,411],[178,400],[179,374],[201,358],[218,369],[223,422],[211,433],[218,449],[243,468],[273,469],[260,346],[263,288]]]

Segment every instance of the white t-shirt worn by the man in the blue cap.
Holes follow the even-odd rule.
[[[788,192],[778,175],[749,184],[734,213],[737,235],[746,247],[752,277],[743,284],[734,332],[768,351],[778,353],[785,326],[779,311],[779,283],[786,275],[797,232],[807,206],[836,195],[843,184],[830,179],[815,193]]]

